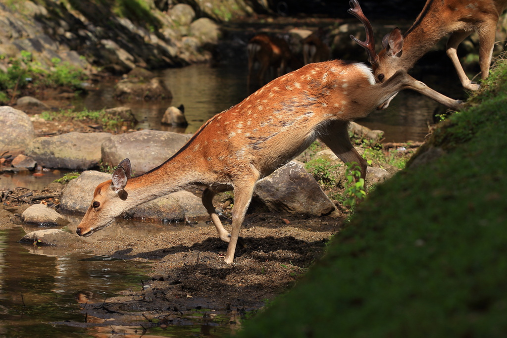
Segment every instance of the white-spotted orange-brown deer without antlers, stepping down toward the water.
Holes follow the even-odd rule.
[[[371,26],[366,29],[371,40]],[[90,236],[110,225],[116,216],[157,197],[204,187],[202,203],[220,239],[229,242],[225,261],[230,264],[256,182],[317,138],[343,162],[358,163],[360,177],[365,178],[367,163],[350,142],[349,122],[366,117],[375,108],[385,108],[403,89],[415,90],[455,110],[461,108],[460,101],[428,88],[404,70],[383,83],[376,83],[365,64],[341,60],[311,63],[287,73],[209,119],[160,166],[131,177],[130,161],[120,162],[112,179],[96,187],[77,234]],[[231,190],[234,211],[229,235],[215,211],[213,197]]]

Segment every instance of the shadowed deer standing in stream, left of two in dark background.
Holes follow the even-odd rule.
[[[248,53],[248,78],[250,86],[253,70],[256,63],[259,64],[257,81],[259,87],[265,84],[266,72],[271,70],[271,78],[279,77],[287,72],[287,68],[300,68],[301,62],[292,54],[288,43],[280,37],[260,33],[253,36],[246,45]]]

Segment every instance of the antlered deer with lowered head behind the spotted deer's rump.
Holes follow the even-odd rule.
[[[350,3],[352,6],[356,2],[354,0]],[[427,0],[422,12],[404,35],[396,27],[384,36],[382,51],[370,59],[375,76],[382,82],[399,69],[408,71],[442,37],[451,33],[446,52],[456,68],[459,80],[465,89],[479,89],[479,85],[466,76],[456,50],[468,35],[477,32],[481,79],[486,79],[498,17],[505,8],[507,0]]]

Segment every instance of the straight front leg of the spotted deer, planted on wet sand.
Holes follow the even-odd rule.
[[[229,246],[225,254],[225,262],[231,264],[234,261],[234,252],[238,243],[239,231],[243,220],[245,219],[246,210],[250,205],[253,189],[257,182],[257,177],[245,177],[234,182],[234,209],[232,214],[232,231]]]

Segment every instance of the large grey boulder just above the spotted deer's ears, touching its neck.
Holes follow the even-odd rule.
[[[102,161],[116,167],[128,158],[137,175],[164,163],[189,139],[189,135],[159,130],[114,135],[102,143]]]

